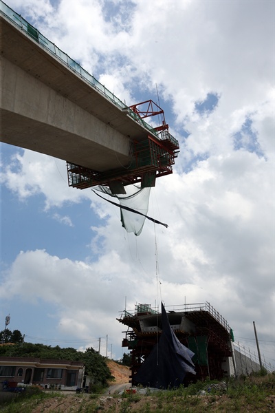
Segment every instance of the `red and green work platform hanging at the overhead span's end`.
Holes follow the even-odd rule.
[[[142,112],[142,116],[140,116],[141,112],[137,112],[137,107],[144,105],[148,105],[152,110],[146,114]],[[157,107],[157,110],[154,111],[155,107]],[[153,100],[134,105],[129,107],[128,110],[136,122],[142,125],[144,123],[143,118],[162,115],[162,125],[151,129],[151,134],[148,134],[146,139],[135,139],[131,142],[129,165],[121,165],[117,169],[100,173],[67,162],[69,187],[85,189],[102,184],[110,187],[113,182],[119,182],[122,186],[141,182],[142,187],[153,187],[155,186],[155,178],[173,173],[172,166],[175,164],[175,158],[179,152],[179,142],[169,134],[163,110]]]

